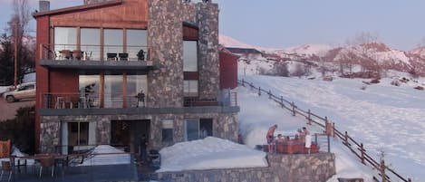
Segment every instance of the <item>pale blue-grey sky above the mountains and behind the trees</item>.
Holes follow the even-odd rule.
[[[29,0],[38,9],[37,0]],[[195,0],[192,0],[192,2]],[[12,14],[0,0],[0,30]],[[220,34],[243,43],[285,48],[305,43],[344,45],[357,34],[377,34],[382,43],[411,50],[425,38],[423,0],[213,0],[220,7]],[[82,0],[51,0],[52,9]],[[33,21],[33,30],[34,21]]]

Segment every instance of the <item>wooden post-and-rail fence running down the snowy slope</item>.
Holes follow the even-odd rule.
[[[321,117],[318,114],[314,114],[311,110],[302,110],[295,105],[294,101],[287,101],[283,96],[275,96],[272,91],[266,91],[261,89],[261,87],[256,87],[252,82],[247,82],[243,79],[242,81],[237,80],[237,82],[244,87],[248,85],[251,90],[258,91],[258,95],[260,96],[262,94],[268,95],[268,99],[275,101],[283,109],[292,112],[293,116],[296,116],[296,114],[304,116],[305,120],[307,120],[307,124],[311,125],[314,123],[315,125],[322,127],[324,129],[324,133],[332,135],[333,138],[342,139],[343,145],[349,148],[353,154],[361,160],[363,165],[369,164],[372,166],[372,168],[375,168],[379,171],[378,174],[381,176],[382,182],[391,182],[391,178],[388,176],[390,174],[398,177],[399,180],[404,182],[411,182],[411,178],[406,179],[405,177],[401,177],[401,175],[399,175],[396,171],[389,168],[388,166],[385,166],[383,158],[381,158],[381,162],[377,162],[375,159],[373,159],[371,155],[367,154],[367,151],[362,143],[357,142],[355,139],[350,137],[347,131],[341,132],[340,130],[336,129],[335,123],[330,122],[327,117]],[[389,171],[388,174],[387,171]],[[375,178],[375,180],[377,179]]]

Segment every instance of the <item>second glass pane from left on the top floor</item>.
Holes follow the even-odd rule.
[[[101,60],[101,29],[82,28],[81,29],[81,50],[83,60]]]

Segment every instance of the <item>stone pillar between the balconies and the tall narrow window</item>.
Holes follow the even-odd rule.
[[[148,46],[158,70],[150,72],[149,105],[183,105],[183,21],[181,0],[149,0]]]

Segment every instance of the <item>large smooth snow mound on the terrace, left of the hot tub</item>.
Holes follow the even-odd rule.
[[[265,152],[214,137],[177,143],[159,153],[161,168],[157,172],[268,166]]]

